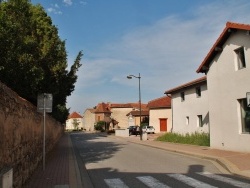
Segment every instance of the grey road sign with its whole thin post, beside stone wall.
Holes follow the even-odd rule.
[[[43,170],[45,170],[45,112],[52,112],[52,101],[52,94],[42,93],[37,96],[37,111],[43,112]]]

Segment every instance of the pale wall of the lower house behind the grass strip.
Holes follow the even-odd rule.
[[[183,89],[185,101],[181,101],[180,92],[172,97],[173,129],[172,132],[186,134],[194,132],[209,132],[208,91],[205,82],[201,86],[201,96],[196,96],[196,87]],[[202,115],[203,127],[198,126],[198,115]],[[189,123],[187,124],[187,117]]]

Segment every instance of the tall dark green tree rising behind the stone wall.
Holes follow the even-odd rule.
[[[36,105],[38,93],[53,94],[54,116],[65,122],[82,51],[67,70],[65,41],[41,5],[29,0],[0,2],[0,80]]]

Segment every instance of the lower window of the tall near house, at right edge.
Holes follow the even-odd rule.
[[[247,106],[246,98],[240,99],[242,133],[250,132],[250,107]]]

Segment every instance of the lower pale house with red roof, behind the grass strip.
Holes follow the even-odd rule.
[[[206,76],[167,90],[165,94],[172,99],[172,132],[209,132]]]

